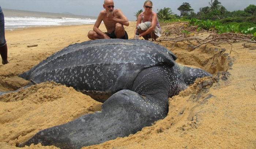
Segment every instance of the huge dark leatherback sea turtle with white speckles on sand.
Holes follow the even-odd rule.
[[[18,146],[41,143],[78,149],[151,126],[167,115],[169,97],[195,79],[211,76],[175,60],[165,47],[144,40],[98,39],[65,47],[20,77],[74,87],[105,101],[102,111],[41,130]]]

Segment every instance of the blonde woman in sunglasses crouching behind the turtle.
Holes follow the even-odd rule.
[[[144,2],[144,11],[139,14],[135,28],[139,32],[139,37],[148,40],[152,38],[154,41],[161,36],[161,27],[157,19],[157,13],[152,11],[153,3],[150,0]]]

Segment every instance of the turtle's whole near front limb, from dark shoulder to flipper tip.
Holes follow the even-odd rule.
[[[41,130],[19,146],[41,143],[61,149],[78,149],[135,134],[143,127],[151,126],[165,118],[168,112],[169,88],[166,77],[158,73],[158,69],[161,68],[140,72],[133,83],[134,91],[123,89],[114,93],[102,104],[101,112]]]

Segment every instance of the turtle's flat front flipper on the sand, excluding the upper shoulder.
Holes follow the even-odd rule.
[[[113,94],[102,104],[102,111],[81,116],[63,125],[44,129],[18,146],[41,143],[54,145],[61,149],[78,149],[82,146],[135,134],[145,126],[159,119],[159,112],[166,109],[148,103],[143,96],[130,90]],[[163,117],[162,117],[163,118]]]

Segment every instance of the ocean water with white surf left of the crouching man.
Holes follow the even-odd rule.
[[[3,9],[5,30],[37,26],[94,24],[97,17]]]

